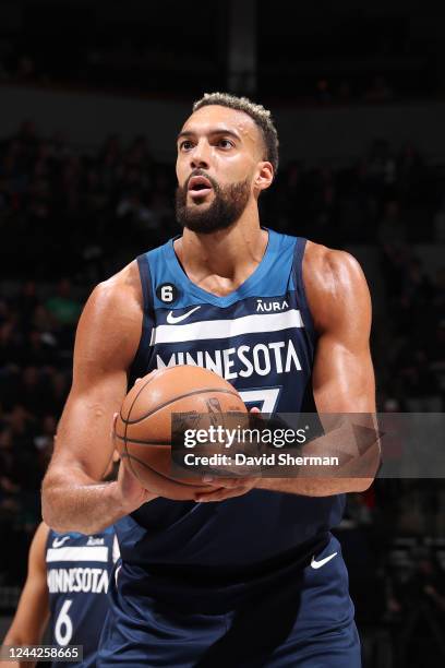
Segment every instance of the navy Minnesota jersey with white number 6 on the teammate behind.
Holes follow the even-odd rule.
[[[109,580],[118,557],[113,527],[93,536],[49,530],[46,564],[51,643],[58,646],[83,645],[83,661],[70,665],[95,665],[109,607]]]

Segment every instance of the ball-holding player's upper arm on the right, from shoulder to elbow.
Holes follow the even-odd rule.
[[[328,446],[336,454],[340,448],[351,457],[336,477],[341,477],[347,490],[361,491],[371,484],[380,462],[370,350],[371,299],[357,263],[347,258],[341,270],[317,343],[313,391]],[[359,426],[365,429],[357,430]],[[375,434],[371,441],[370,430]]]

